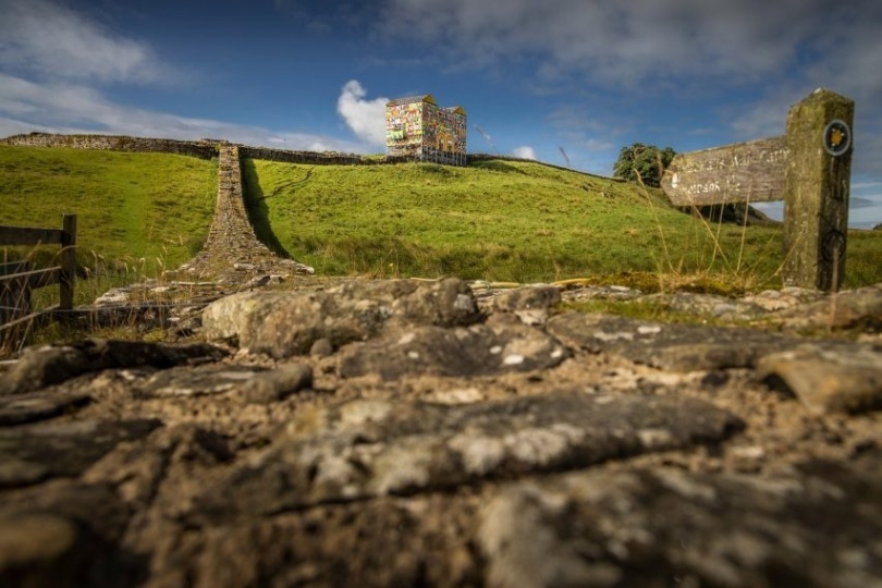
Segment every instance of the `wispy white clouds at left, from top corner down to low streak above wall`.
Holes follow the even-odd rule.
[[[0,0],[0,136],[108,133],[223,138],[294,150],[370,150],[359,142],[117,103],[100,89],[103,84],[155,85],[174,77],[149,45],[117,35],[52,0]]]

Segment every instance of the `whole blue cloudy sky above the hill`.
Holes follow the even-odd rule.
[[[468,112],[470,152],[564,164],[563,149],[609,175],[634,142],[781,135],[828,87],[856,101],[849,222],[882,222],[879,0],[0,0],[0,136],[383,152],[387,99],[432,94]]]

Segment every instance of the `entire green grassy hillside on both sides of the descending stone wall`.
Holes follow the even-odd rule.
[[[779,226],[705,221],[658,191],[540,163],[245,160],[243,177],[258,236],[319,274],[782,285]],[[60,226],[76,212],[78,260],[93,272],[149,277],[186,261],[208,233],[216,186],[216,161],[0,146],[0,224]],[[882,233],[852,232],[846,269],[846,286],[882,282]]]

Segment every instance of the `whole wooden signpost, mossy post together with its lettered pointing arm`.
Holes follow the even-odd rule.
[[[662,176],[676,206],[784,200],[784,283],[838,290],[845,277],[855,102],[817,89],[787,134],[674,157]]]

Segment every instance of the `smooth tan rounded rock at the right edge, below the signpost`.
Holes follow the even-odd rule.
[[[767,381],[783,383],[819,414],[882,408],[882,353],[869,346],[805,344],[767,355],[757,367]]]

